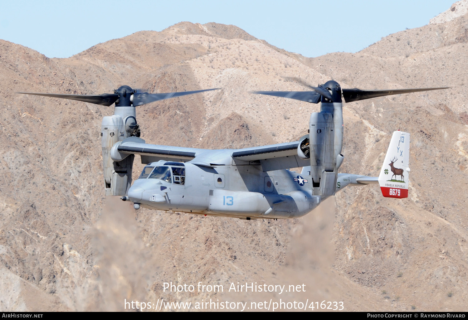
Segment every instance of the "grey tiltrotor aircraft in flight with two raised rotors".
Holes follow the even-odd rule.
[[[110,106],[102,119],[102,159],[106,196],[122,196],[134,208],[202,215],[257,218],[298,218],[348,185],[379,183],[383,196],[408,197],[409,133],[395,131],[379,177],[338,173],[343,163],[343,103],[384,95],[435,90],[342,89],[333,80],[311,91],[254,91],[300,101],[321,102],[313,112],[309,134],[299,141],[244,149],[207,150],[150,145],[139,138],[135,107],[202,91],[139,93],[122,86],[113,94],[44,95]],[[134,155],[147,164],[132,183]],[[300,174],[289,168],[302,167]]]

